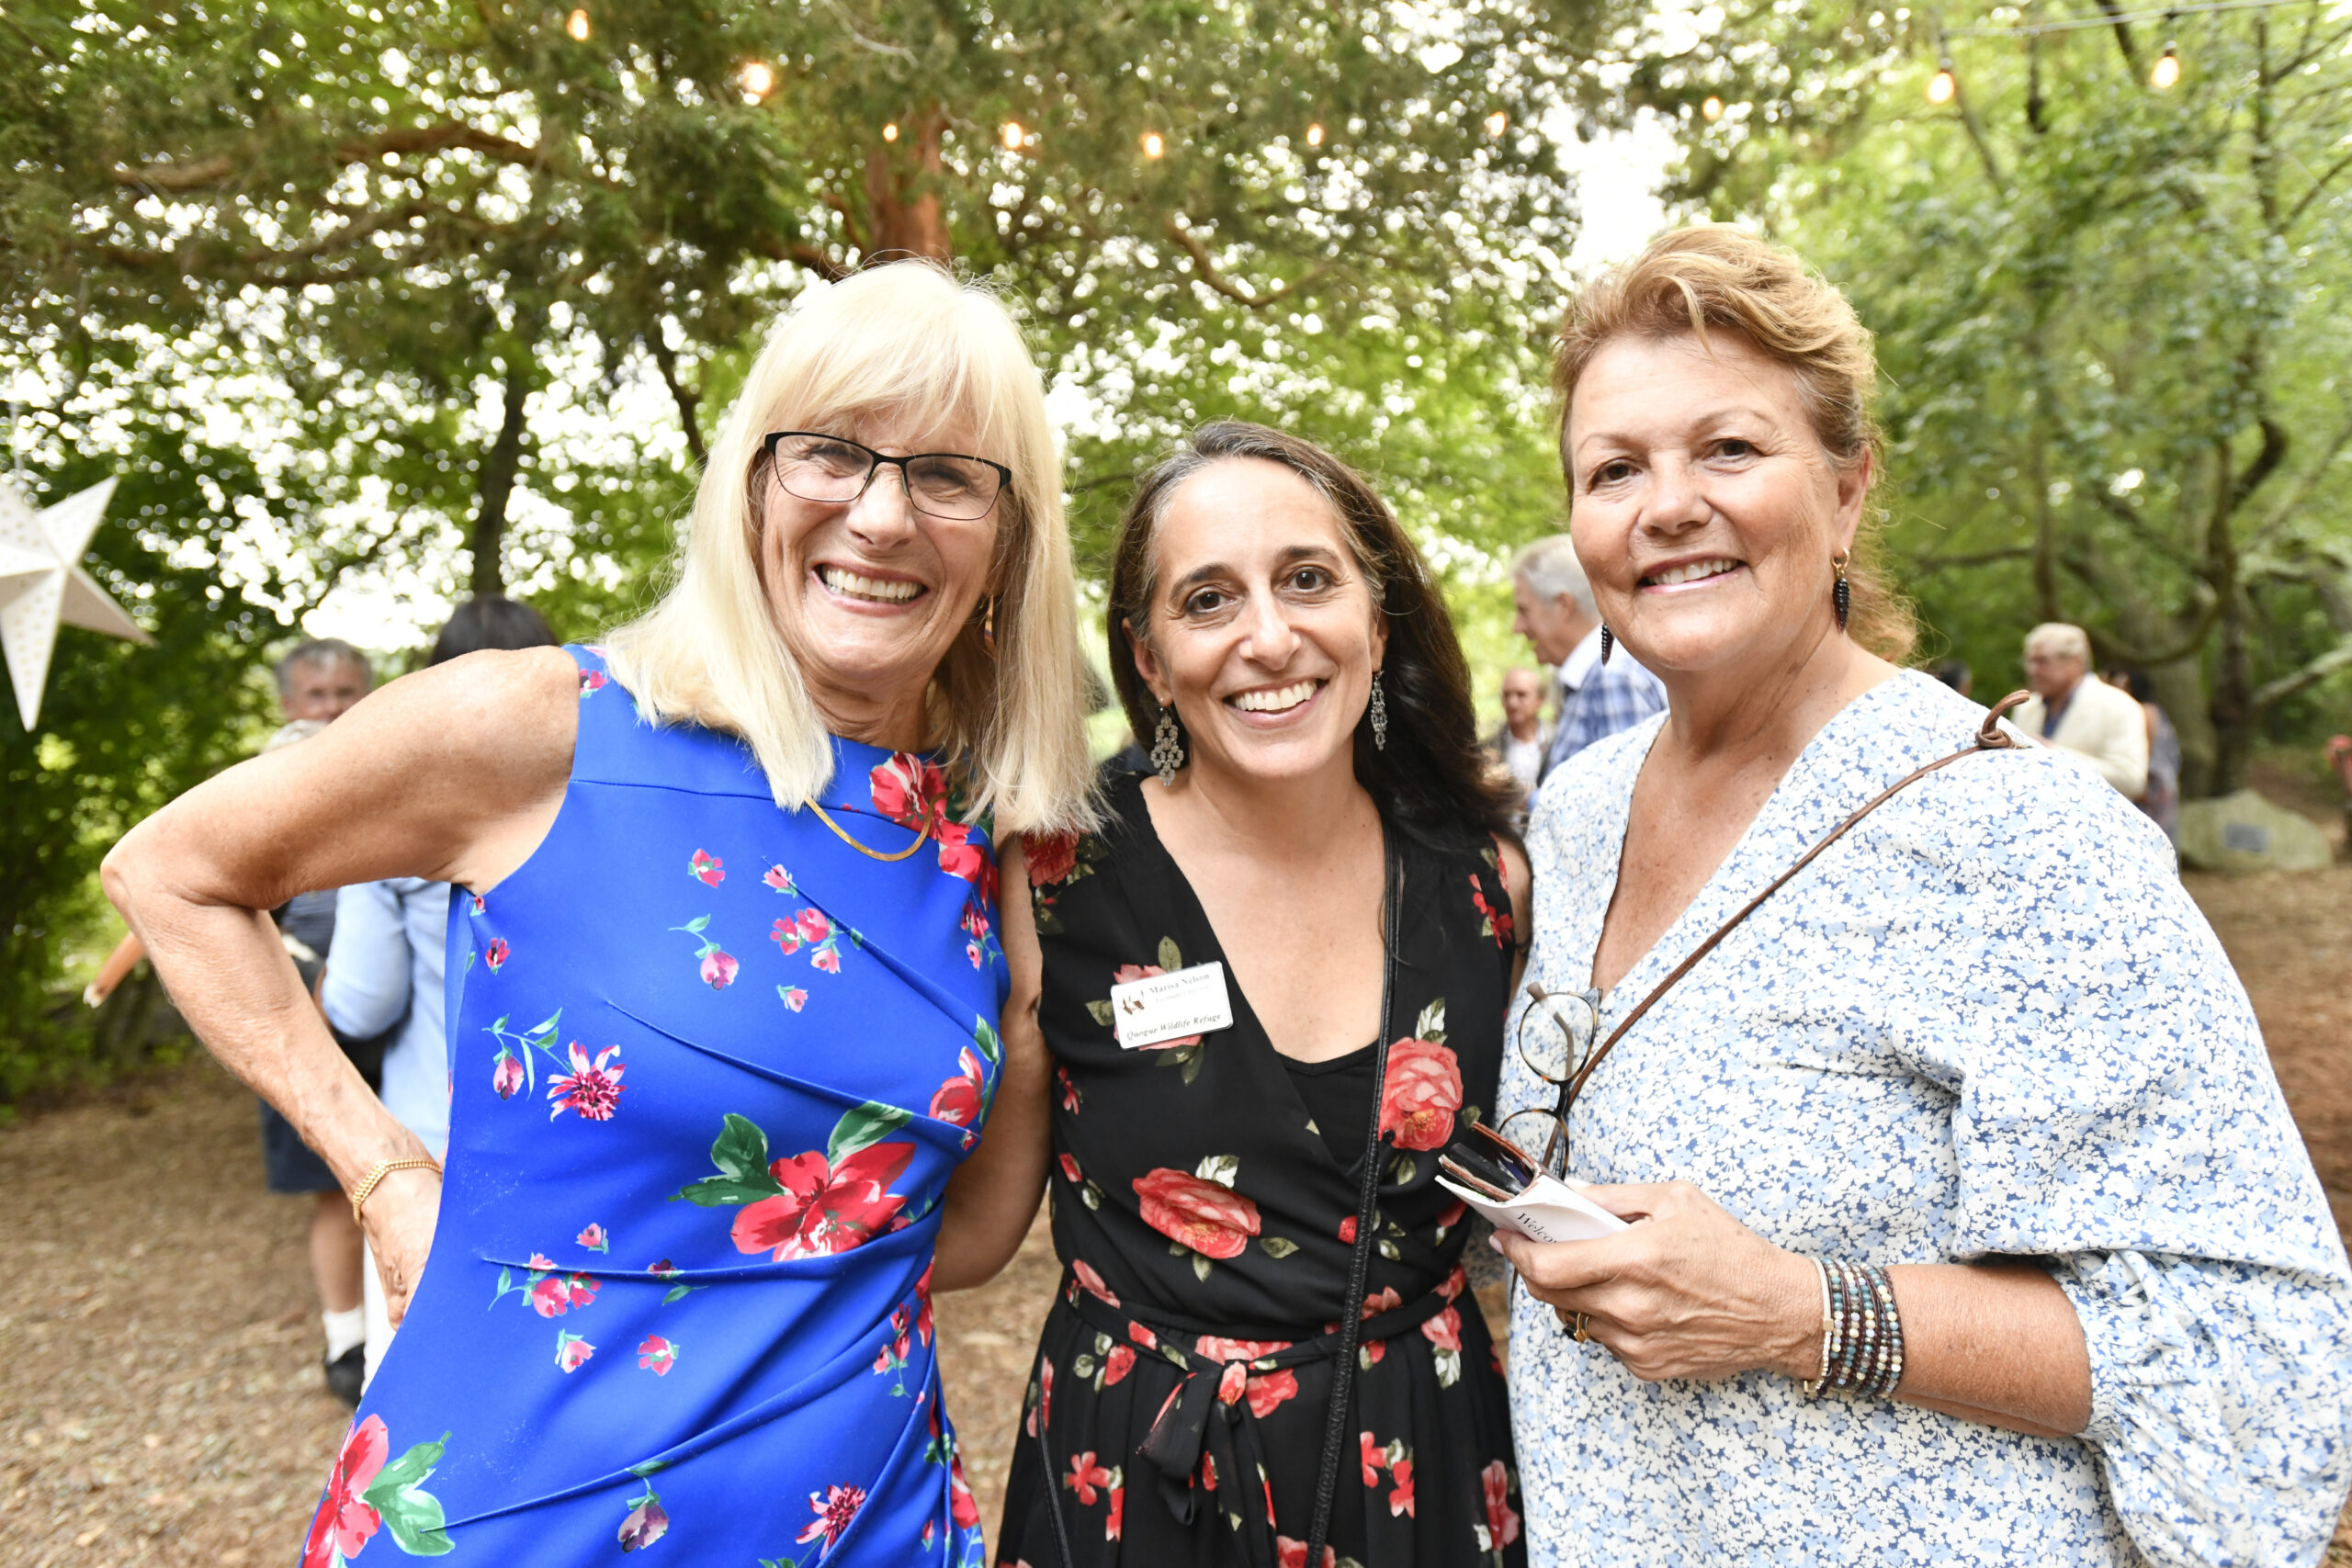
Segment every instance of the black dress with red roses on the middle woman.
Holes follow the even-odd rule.
[[[1115,983],[1223,959],[1152,832],[1145,788],[1157,785],[1143,773],[1110,773],[1101,835],[1028,853],[1063,1284],[997,1561],[1054,1568],[1065,1544],[1073,1568],[1305,1568],[1371,1046],[1355,1072],[1352,1058],[1291,1063],[1230,969],[1232,1027],[1120,1046]],[[1494,1107],[1512,912],[1494,839],[1432,846],[1390,827],[1390,842],[1404,858],[1381,1095],[1390,1138],[1374,1145],[1376,1253],[1327,1561],[1522,1563],[1510,1403],[1463,1284],[1470,1225],[1435,1185],[1456,1121]],[[1315,1110],[1352,1126],[1322,1126]]]

